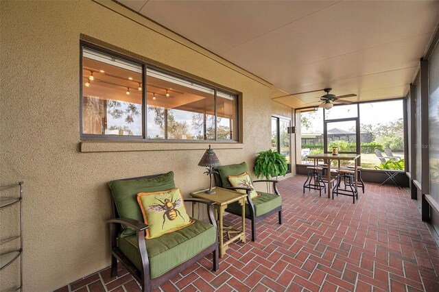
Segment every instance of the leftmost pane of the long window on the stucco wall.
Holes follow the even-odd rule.
[[[142,128],[142,66],[82,51],[82,134],[137,136]]]

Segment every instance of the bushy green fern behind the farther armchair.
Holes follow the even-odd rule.
[[[261,151],[254,162],[254,174],[257,178],[270,180],[278,175],[285,175],[288,170],[287,159],[277,151]]]

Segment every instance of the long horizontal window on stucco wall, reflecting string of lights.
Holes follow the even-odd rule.
[[[85,46],[81,110],[82,138],[238,141],[236,94]]]

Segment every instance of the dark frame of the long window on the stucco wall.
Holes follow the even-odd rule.
[[[83,101],[84,101],[84,92],[83,92],[83,48],[92,49],[98,51],[99,53],[104,53],[108,56],[114,56],[116,58],[120,58],[122,60],[126,60],[128,62],[132,62],[134,64],[138,64],[142,67],[142,110],[141,110],[141,123],[142,123],[142,135],[141,136],[128,136],[128,135],[114,135],[114,134],[84,134],[84,113],[83,113]],[[215,138],[213,140],[203,139],[203,140],[191,140],[191,139],[157,139],[157,138],[147,138],[147,69],[152,69],[154,71],[161,72],[163,74],[169,75],[170,77],[176,77],[181,80],[185,80],[187,82],[198,84],[200,86],[204,86],[206,88],[211,88],[214,91],[214,114],[215,114]],[[153,64],[132,58],[130,56],[123,55],[117,51],[112,51],[110,49],[106,49],[103,47],[99,47],[91,42],[86,42],[84,40],[80,40],[80,141],[142,141],[146,143],[241,143],[241,133],[240,133],[240,125],[242,123],[239,115],[239,110],[241,106],[241,94],[237,92],[233,92],[231,90],[227,90],[225,88],[215,86],[213,84],[209,84],[206,82],[202,82],[200,80],[195,80],[191,77],[174,73],[172,71],[168,71],[167,69],[163,69],[159,66],[155,66]],[[218,139],[217,138],[217,92],[225,93],[227,95],[231,95],[235,98],[235,114],[237,125],[235,125],[236,137],[233,139]],[[206,138],[205,134],[206,125],[204,125],[204,138]],[[167,129],[165,129],[167,132]]]

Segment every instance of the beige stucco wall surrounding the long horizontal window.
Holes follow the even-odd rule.
[[[80,151],[80,34],[241,92],[244,143],[218,149],[223,164],[252,164],[254,154],[270,147],[270,84],[115,3],[102,4],[0,1],[0,183],[25,181],[26,291],[56,289],[109,265],[108,181],[173,170],[185,194],[209,184],[197,166],[207,143]],[[1,228],[8,217],[1,217]],[[0,273],[0,290],[14,284],[17,269]]]

